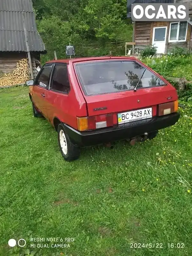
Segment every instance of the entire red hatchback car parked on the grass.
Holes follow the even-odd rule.
[[[58,132],[67,161],[77,159],[82,146],[153,139],[180,117],[176,89],[131,57],[49,61],[26,85],[34,116]]]

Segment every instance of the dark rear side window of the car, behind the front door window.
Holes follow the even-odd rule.
[[[67,64],[56,64],[52,78],[51,90],[69,93],[70,85]]]

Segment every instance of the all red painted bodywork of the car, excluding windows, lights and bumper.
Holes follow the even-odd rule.
[[[133,57],[91,57],[67,60],[52,60],[47,63],[67,63],[70,92],[64,94],[47,90],[36,85],[30,90],[32,100],[36,107],[54,126],[54,118],[60,122],[77,130],[76,117],[98,116],[113,113],[113,123],[117,124],[117,113],[131,111],[145,107],[152,107],[152,115],[156,116],[157,105],[178,99],[175,88],[158,75],[151,68],[147,67],[156,76],[161,78],[167,85],[141,88],[136,92],[119,91],[99,95],[85,95],[76,74],[75,65],[80,62],[100,61],[100,60],[134,60],[142,66],[147,67],[142,62]],[[46,63],[46,64],[47,64]],[[42,93],[45,97],[39,96]],[[94,111],[94,108],[106,107],[107,109]],[[100,117],[99,117],[100,118]],[[99,119],[98,119],[99,120]]]

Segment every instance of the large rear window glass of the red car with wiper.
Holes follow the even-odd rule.
[[[137,89],[165,85],[150,70],[130,60],[79,63],[76,72],[86,95],[134,90],[141,77]]]

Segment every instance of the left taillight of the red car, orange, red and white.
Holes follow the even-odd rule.
[[[113,126],[113,114],[77,117],[78,131],[87,131]]]

